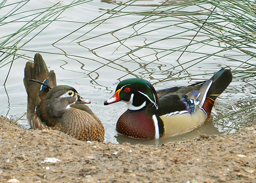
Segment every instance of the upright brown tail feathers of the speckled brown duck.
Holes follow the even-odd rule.
[[[34,57],[34,62],[29,61],[26,63],[23,79],[26,93],[28,95],[27,120],[29,121],[32,129],[42,130],[47,127],[42,124],[41,119],[38,117],[38,115],[35,114],[36,101],[41,88],[41,84],[33,82],[29,79],[44,82],[44,80],[47,78],[50,78],[49,85],[56,85],[55,73],[53,71],[49,73],[43,57],[39,53],[36,53]]]

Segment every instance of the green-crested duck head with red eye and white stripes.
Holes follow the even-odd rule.
[[[153,85],[140,78],[125,79],[116,87],[115,94],[104,102],[104,105],[118,101],[127,103],[128,110],[140,110],[152,105],[158,109],[159,100]]]

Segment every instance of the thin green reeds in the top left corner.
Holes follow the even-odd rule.
[[[52,22],[61,21],[61,14],[67,8],[78,6],[81,3],[87,3],[90,1],[91,0],[74,0],[68,5],[56,3],[47,8],[36,8],[29,11],[23,11],[22,8],[26,6],[27,3],[31,3],[32,1],[20,0],[12,3],[10,0],[4,0],[2,3],[0,3],[0,11],[6,11],[6,14],[4,14],[3,17],[0,17],[0,28],[4,30],[4,26],[6,24],[23,23],[23,25],[20,27],[15,27],[14,30],[11,32],[6,32],[6,34],[1,37],[0,68],[19,59],[20,57],[28,60],[31,59],[31,57],[26,56],[26,54],[21,54],[17,51],[24,51],[23,47],[29,44],[32,39],[37,37],[38,34],[44,31],[44,29],[46,29]],[[13,59],[11,59],[12,56]]]

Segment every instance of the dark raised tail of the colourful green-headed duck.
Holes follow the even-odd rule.
[[[232,81],[232,78],[233,76],[231,70],[224,68],[219,70],[211,77],[210,80],[212,80],[212,84],[207,92],[206,99],[203,104],[203,108],[207,112],[208,117],[212,111],[215,100],[227,88]]]

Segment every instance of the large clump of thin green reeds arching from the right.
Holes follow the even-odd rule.
[[[74,39],[78,41],[79,44],[86,42],[91,39],[96,39],[104,37],[107,34],[113,34],[125,31],[127,28],[133,28],[134,31],[125,38],[117,39],[114,42],[108,42],[105,45],[101,45],[97,48],[92,48],[90,51],[97,51],[100,48],[109,47],[111,45],[119,44],[115,49],[116,52],[121,46],[125,46],[125,42],[134,37],[147,37],[148,33],[153,33],[160,31],[162,29],[173,27],[180,28],[179,32],[172,33],[157,39],[151,42],[145,42],[144,45],[135,45],[134,48],[130,48],[131,51],[119,56],[116,59],[110,60],[107,64],[103,64],[101,67],[96,68],[88,74],[96,72],[100,68],[111,65],[112,63],[117,62],[126,58],[126,62],[136,62],[148,56],[153,56],[159,54],[160,56],[156,59],[148,61],[144,64],[141,64],[140,67],[132,71],[123,70],[125,74],[119,79],[122,79],[128,75],[137,75],[136,71],[145,68],[147,65],[151,65],[154,62],[168,57],[171,54],[178,53],[177,62],[179,62],[184,55],[187,54],[197,54],[196,58],[179,62],[179,65],[182,69],[172,73],[172,75],[159,80],[154,83],[159,82],[168,82],[169,80],[175,80],[180,73],[192,68],[195,65],[198,65],[206,60],[212,58],[219,58],[232,61],[237,65],[232,67],[234,79],[253,79],[256,76],[256,4],[253,0],[190,0],[182,3],[169,4],[169,1],[164,1],[162,4],[155,8],[148,9],[146,11],[126,11],[129,6],[136,1],[128,1],[122,5],[116,6],[110,10],[107,10],[104,14],[105,16],[99,16],[90,22],[90,25],[95,24],[93,28],[89,31]],[[194,10],[195,9],[195,10]],[[109,16],[106,16],[109,15]],[[140,20],[136,20],[133,23],[119,27],[118,29],[113,29],[107,31],[103,34],[99,34],[93,37],[87,37],[82,39],[84,35],[88,34],[90,31],[93,31],[95,28],[99,27],[102,23],[105,23],[107,20],[114,21],[116,18],[124,16],[139,15],[141,16]],[[146,29],[147,25],[154,25],[158,23],[164,23],[163,26],[156,26],[157,28]],[[189,25],[189,26],[188,26]],[[83,28],[86,25],[83,25]],[[189,27],[189,28],[188,28]],[[192,28],[191,28],[192,27]],[[77,30],[79,30],[78,28]],[[68,34],[70,36],[76,31]],[[183,37],[183,35],[191,35],[191,37]],[[198,39],[201,38],[201,39]],[[188,43],[185,45],[172,46],[171,48],[160,48],[155,46],[158,42],[167,42],[171,39],[185,40]],[[60,39],[61,40],[61,39]],[[59,41],[60,41],[59,40]],[[58,41],[57,41],[58,42]],[[201,48],[207,47],[202,51]],[[132,55],[136,55],[139,51],[144,51],[145,55],[137,58],[131,58]],[[154,50],[157,53],[147,54],[147,50]],[[236,54],[224,54],[226,52],[235,52]],[[113,52],[113,53],[114,53]],[[112,53],[112,54],[113,54]],[[241,60],[240,58],[245,58]],[[244,66],[249,66],[249,68],[244,68]],[[167,72],[178,67],[177,65],[169,67],[162,72]],[[209,73],[208,73],[209,74]],[[190,75],[195,76],[195,75]],[[178,77],[180,79],[180,76]],[[254,99],[255,100],[255,99]],[[248,118],[255,118],[255,105],[246,107],[244,109],[238,110],[235,113],[246,112],[247,115],[241,120]],[[229,115],[233,115],[231,113]],[[227,115],[228,116],[228,115]],[[224,116],[224,117],[227,117]],[[223,117],[223,118],[224,118]],[[215,121],[220,120],[216,119]],[[239,123],[241,123],[241,121]],[[238,124],[239,124],[238,123]],[[237,124],[237,125],[238,125]],[[233,127],[235,128],[235,127]]]

